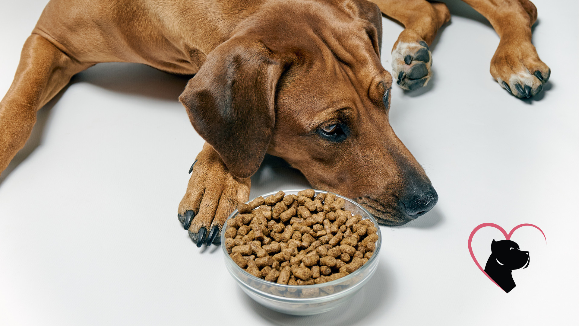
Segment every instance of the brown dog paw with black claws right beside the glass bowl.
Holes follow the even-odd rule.
[[[185,196],[179,204],[178,218],[189,237],[202,244],[219,243],[223,223],[240,202],[249,200],[250,178],[229,173],[219,154],[205,144],[193,166]]]

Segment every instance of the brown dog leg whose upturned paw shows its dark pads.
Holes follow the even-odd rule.
[[[432,54],[428,46],[438,28],[450,20],[450,12],[442,2],[426,0],[372,0],[386,16],[400,21],[405,30],[392,48],[392,75],[406,90],[426,86],[432,75]]]

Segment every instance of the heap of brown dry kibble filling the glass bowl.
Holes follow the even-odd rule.
[[[337,280],[368,262],[378,241],[378,227],[352,215],[345,204],[344,198],[316,195],[312,189],[255,198],[239,204],[239,213],[227,221],[225,248],[236,265],[266,281],[310,285]],[[263,287],[288,298],[312,298],[342,289],[340,285],[302,291]]]

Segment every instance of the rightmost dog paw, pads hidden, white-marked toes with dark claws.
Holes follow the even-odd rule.
[[[503,42],[490,61],[490,74],[499,85],[516,97],[537,95],[551,77],[551,69],[528,44]]]

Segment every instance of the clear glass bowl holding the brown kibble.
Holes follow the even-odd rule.
[[[286,195],[289,195],[298,194],[298,191],[301,190],[303,189],[283,191]],[[314,191],[316,191],[316,195],[319,193],[327,193],[327,191]],[[276,193],[277,191],[273,191],[272,193],[263,194],[262,197],[266,198],[267,196]],[[344,198],[346,201],[346,204],[344,205],[345,210],[350,211],[354,215],[361,215],[362,219],[371,219],[374,225],[378,228],[376,249],[374,250],[372,257],[368,259],[368,262],[353,273],[331,282],[313,285],[277,284],[255,277],[241,269],[241,267],[233,262],[229,257],[227,249],[225,249],[225,231],[227,227],[223,227],[221,231],[221,248],[223,249],[223,255],[225,255],[225,265],[227,266],[231,276],[233,276],[237,281],[237,284],[239,284],[241,289],[243,289],[248,296],[269,309],[286,314],[307,316],[324,313],[325,311],[338,307],[354,296],[358,291],[360,291],[364,284],[368,282],[376,271],[378,259],[380,257],[380,244],[382,244],[380,227],[372,214],[366,209],[349,198],[338,194],[336,194],[336,196]],[[234,218],[237,213],[236,209],[231,213],[231,215],[229,215],[228,220]],[[227,225],[227,222],[225,222],[225,225]]]

